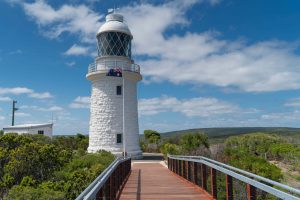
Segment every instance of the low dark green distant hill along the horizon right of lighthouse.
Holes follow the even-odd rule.
[[[264,133],[276,133],[280,135],[299,135],[300,128],[289,128],[289,127],[224,127],[224,128],[198,128],[198,129],[187,129],[180,131],[171,131],[161,133],[162,138],[181,136],[185,133],[191,132],[202,132],[208,135],[210,139],[221,139],[229,136],[241,135],[253,132],[264,132]]]

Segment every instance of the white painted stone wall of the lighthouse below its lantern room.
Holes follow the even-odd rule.
[[[116,64],[114,66],[111,63]],[[106,75],[109,69],[121,67],[120,65],[123,68],[122,77]],[[125,139],[127,155],[133,158],[142,156],[139,147],[137,109],[137,82],[142,80],[142,76],[139,70],[134,70],[132,66],[134,61],[130,58],[111,55],[98,56],[95,59],[95,66],[89,69],[87,79],[92,83],[92,92],[88,152],[106,150],[122,155]],[[122,86],[121,95],[117,95],[117,86]],[[125,135],[123,135],[123,95],[125,95]],[[117,134],[122,134],[122,143],[117,144]]]

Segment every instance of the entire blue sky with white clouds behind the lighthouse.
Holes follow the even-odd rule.
[[[140,132],[300,127],[300,2],[115,1],[141,65]],[[113,1],[0,2],[0,128],[88,133],[95,34]],[[53,116],[53,117],[52,117]]]

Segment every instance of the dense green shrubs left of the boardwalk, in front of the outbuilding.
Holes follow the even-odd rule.
[[[88,154],[88,137],[0,137],[0,199],[75,199],[114,159]]]

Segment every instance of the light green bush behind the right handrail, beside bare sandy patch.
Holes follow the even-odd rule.
[[[281,142],[283,140],[278,136],[263,133],[230,137],[225,141],[226,160],[240,169],[280,181],[281,170],[268,162],[266,154],[274,145],[280,146]]]

